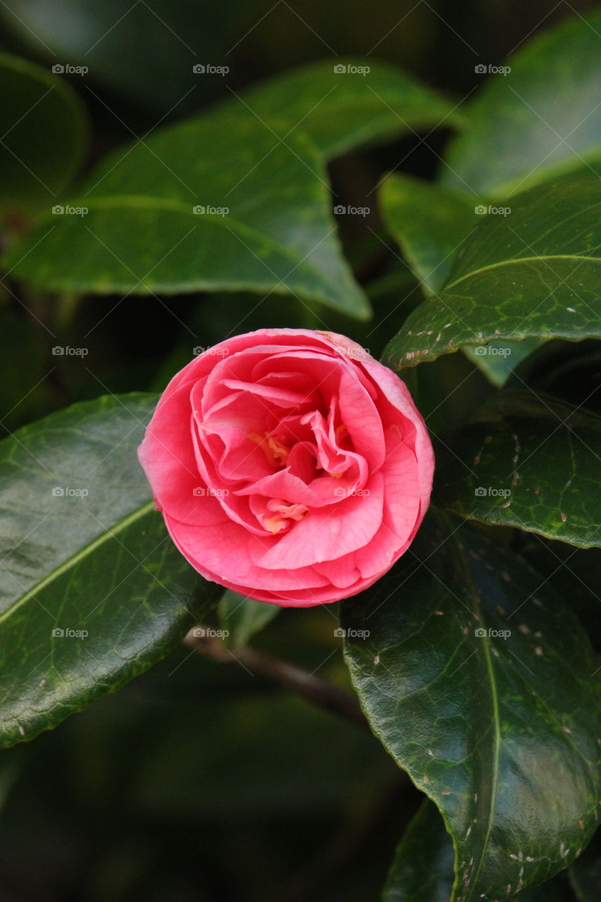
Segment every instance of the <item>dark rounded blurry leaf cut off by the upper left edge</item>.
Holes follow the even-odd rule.
[[[75,91],[49,69],[0,53],[0,208],[50,208],[78,172],[88,119]]]

